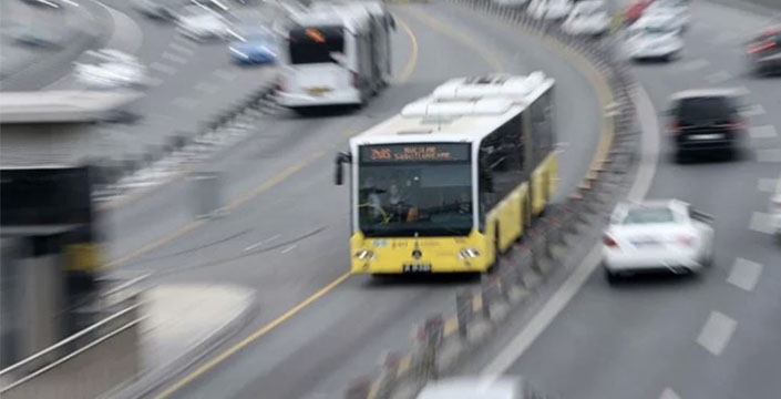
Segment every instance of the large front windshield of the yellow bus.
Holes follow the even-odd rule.
[[[455,145],[469,154],[469,144]],[[359,227],[368,237],[465,236],[472,229],[469,157],[361,162],[358,175]]]

